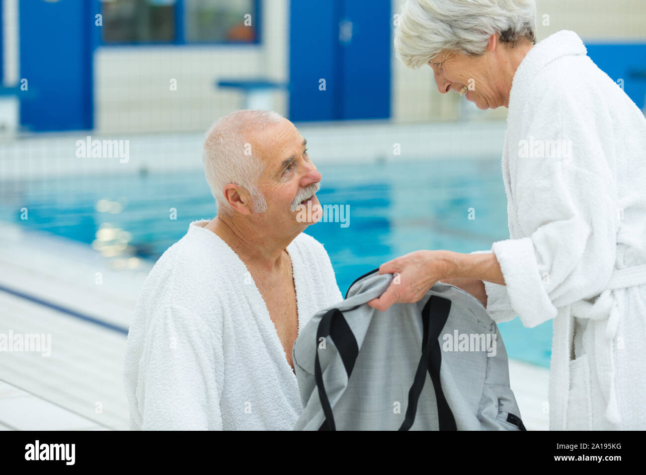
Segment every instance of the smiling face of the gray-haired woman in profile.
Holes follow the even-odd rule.
[[[495,84],[495,76],[492,74],[494,58],[491,56],[489,51],[476,57],[444,51],[428,64],[435,74],[439,92],[464,92],[464,97],[472,101],[478,109],[495,109],[505,105],[505,102]]]

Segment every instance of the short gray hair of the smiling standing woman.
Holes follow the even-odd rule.
[[[536,44],[536,1],[408,0],[395,28],[395,56],[412,69],[445,50],[481,56],[496,33],[512,47],[523,37]]]

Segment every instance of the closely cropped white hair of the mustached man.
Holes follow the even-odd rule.
[[[273,111],[242,109],[216,120],[204,137],[202,163],[218,214],[233,211],[222,193],[225,185],[244,187],[253,200],[253,211],[267,211],[267,201],[258,189],[264,165],[249,142],[249,132],[261,131],[286,120]]]

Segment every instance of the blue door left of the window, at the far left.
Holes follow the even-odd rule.
[[[92,129],[94,1],[20,0],[21,125],[31,131]]]

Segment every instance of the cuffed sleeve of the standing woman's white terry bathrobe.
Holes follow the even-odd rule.
[[[506,138],[516,213],[510,232],[525,237],[492,246],[512,307],[527,327],[601,293],[616,254],[614,171],[599,142],[607,118],[587,111],[595,103],[589,90],[554,82],[549,94],[527,100],[518,133]]]

